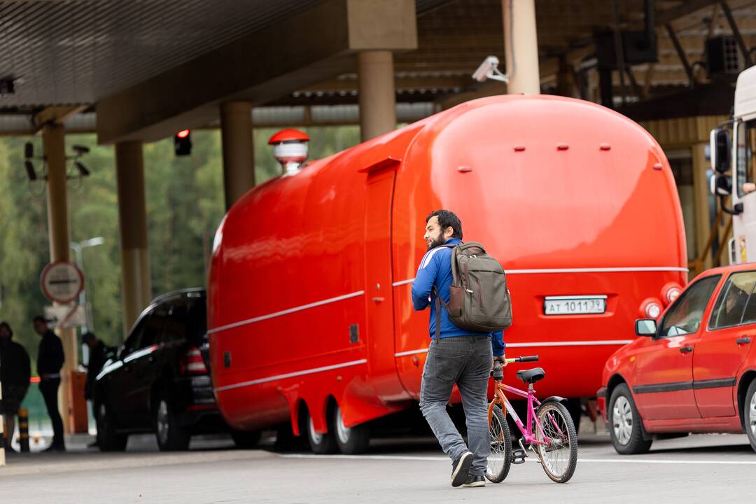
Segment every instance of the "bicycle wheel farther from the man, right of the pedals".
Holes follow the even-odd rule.
[[[578,434],[567,408],[559,403],[544,403],[538,407],[538,421],[543,430],[536,428],[538,458],[546,475],[557,483],[572,478],[578,465]]]

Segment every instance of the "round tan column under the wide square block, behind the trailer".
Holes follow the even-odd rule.
[[[391,51],[363,51],[357,55],[362,141],[396,128],[394,55]]]

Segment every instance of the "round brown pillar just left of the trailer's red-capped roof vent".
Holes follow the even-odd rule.
[[[255,187],[253,139],[252,104],[240,101],[222,104],[221,141],[226,210],[246,191]]]

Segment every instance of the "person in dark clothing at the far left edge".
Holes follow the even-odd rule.
[[[32,377],[29,354],[17,342],[12,341],[13,331],[6,322],[0,322],[0,383],[2,383],[2,413],[5,418],[5,450],[11,448],[16,415],[23,397],[29,390]]]

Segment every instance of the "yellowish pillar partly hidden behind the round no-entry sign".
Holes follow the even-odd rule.
[[[42,126],[42,144],[47,161],[48,233],[50,234],[50,261],[70,260],[70,234],[68,227],[68,198],[66,184],[66,144],[63,125],[48,122]],[[56,329],[63,343],[66,360],[61,369],[58,404],[65,431],[71,431],[68,388],[70,373],[79,366],[79,347],[76,329]]]

